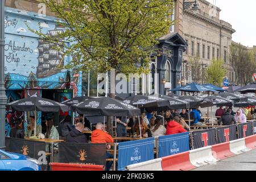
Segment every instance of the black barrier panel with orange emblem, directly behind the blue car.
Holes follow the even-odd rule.
[[[39,159],[42,157],[42,154],[39,152],[46,152],[45,142],[6,137],[5,145],[5,151],[7,152],[27,155],[34,159]],[[39,162],[41,161],[39,160]],[[42,167],[42,170],[46,169],[46,164],[42,164],[40,166]]]

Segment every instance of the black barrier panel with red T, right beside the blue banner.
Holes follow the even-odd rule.
[[[214,144],[216,144],[215,129],[193,131],[192,138],[193,148],[195,149],[213,146]]]

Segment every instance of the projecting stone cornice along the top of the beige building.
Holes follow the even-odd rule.
[[[234,30],[233,28],[225,26],[224,24],[221,24],[220,22],[216,22],[216,20],[210,19],[207,16],[204,16],[202,14],[199,14],[199,13],[195,14],[195,13],[192,13],[192,11],[189,11],[189,10],[185,10],[184,13],[186,13],[186,14],[188,14],[190,16],[193,16],[195,18],[198,18],[200,20],[203,20],[204,22],[213,24],[214,26],[216,26],[218,28],[223,28],[224,30],[229,31],[232,34],[234,34],[234,32],[236,32],[236,30]]]

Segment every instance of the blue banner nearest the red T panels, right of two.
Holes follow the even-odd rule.
[[[189,133],[159,137],[158,143],[159,158],[189,151]]]

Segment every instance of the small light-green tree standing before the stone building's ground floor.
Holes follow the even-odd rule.
[[[226,71],[223,68],[222,60],[213,60],[212,64],[207,68],[205,72],[205,80],[209,84],[221,86],[223,77],[226,75]]]

